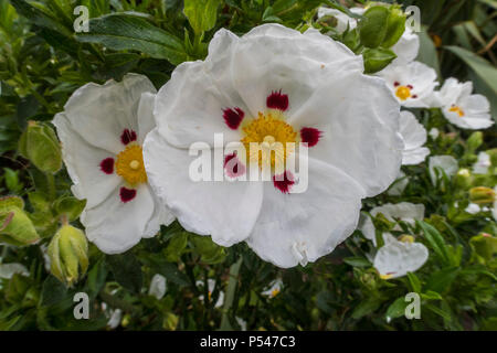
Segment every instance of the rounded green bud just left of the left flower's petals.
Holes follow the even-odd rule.
[[[19,152],[43,172],[56,173],[62,168],[61,146],[47,124],[29,121],[19,140]]]

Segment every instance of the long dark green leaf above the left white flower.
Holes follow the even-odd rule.
[[[92,19],[89,32],[78,33],[76,39],[116,51],[139,51],[151,57],[166,58],[175,65],[188,60],[182,41],[148,21],[129,14],[113,13]]]

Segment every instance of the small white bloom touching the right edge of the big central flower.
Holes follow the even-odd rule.
[[[410,111],[401,111],[400,133],[404,139],[402,164],[412,165],[424,161],[430,150],[422,147],[426,142],[426,130]]]

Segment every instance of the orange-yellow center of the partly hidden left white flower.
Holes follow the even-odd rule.
[[[117,154],[116,173],[131,185],[147,182],[144,153],[140,146],[129,145],[124,151]]]

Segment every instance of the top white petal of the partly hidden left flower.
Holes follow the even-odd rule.
[[[138,105],[145,92],[156,89],[147,76],[137,74],[127,74],[119,83],[89,83],[74,92],[62,114],[88,143],[117,154],[124,148],[124,129],[138,130]]]

